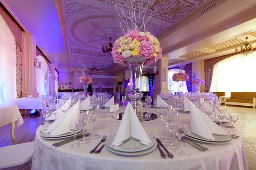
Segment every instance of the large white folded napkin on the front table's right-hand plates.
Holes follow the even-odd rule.
[[[212,134],[227,135],[218,125],[216,125],[208,116],[206,116],[198,107],[189,101],[190,105],[190,125],[191,132],[214,140]]]

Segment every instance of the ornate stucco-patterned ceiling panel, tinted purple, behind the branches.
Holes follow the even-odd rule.
[[[121,0],[125,3],[127,0]],[[102,0],[60,0],[64,32],[69,52],[70,66],[87,62],[105,70],[115,63],[113,57],[103,54],[102,44],[122,36],[119,22],[114,16],[114,7]],[[157,36],[177,21],[192,14],[196,8],[210,0],[150,0],[148,15],[155,12],[146,25],[146,30]]]

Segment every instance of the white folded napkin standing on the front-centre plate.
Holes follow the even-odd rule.
[[[111,146],[119,146],[130,137],[139,139],[141,144],[149,145],[152,143],[145,133],[131,103],[128,103]]]

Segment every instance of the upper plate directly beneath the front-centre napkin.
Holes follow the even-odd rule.
[[[111,148],[113,150],[120,151],[120,152],[140,152],[140,151],[147,150],[147,149],[151,148],[155,143],[155,139],[152,138],[151,136],[148,136],[148,138],[152,142],[152,144],[149,144],[149,145],[141,144],[140,140],[134,139],[131,137],[131,138],[125,140],[123,142],[123,144],[121,144],[120,146],[111,146],[111,144],[115,138],[115,135],[116,134],[108,136],[105,143],[106,143],[106,145],[108,145],[109,148]]]

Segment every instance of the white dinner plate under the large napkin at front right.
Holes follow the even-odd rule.
[[[231,137],[229,135],[216,135],[216,134],[212,134],[212,136],[214,137],[214,140],[206,139],[204,137],[198,136],[195,133],[192,133],[190,131],[190,128],[189,128],[189,130],[186,131],[185,135],[189,136],[191,138],[194,138],[194,139],[201,140],[201,141],[215,142],[215,143],[216,142],[227,142],[231,139]]]

